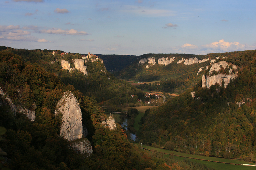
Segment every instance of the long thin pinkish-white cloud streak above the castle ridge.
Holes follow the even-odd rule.
[[[48,33],[48,34],[63,34],[63,35],[66,35],[66,34],[69,34],[69,35],[88,35],[87,32],[85,31],[80,31],[78,32],[77,30],[74,30],[74,29],[70,29],[70,30],[62,30],[62,29],[56,29],[56,28],[52,28],[50,30],[41,30],[39,31],[39,33]]]

